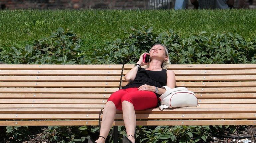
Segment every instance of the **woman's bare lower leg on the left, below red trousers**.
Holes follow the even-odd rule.
[[[115,120],[116,106],[112,101],[108,101],[104,107],[103,118],[100,127],[100,136],[107,138],[109,130]],[[99,137],[97,143],[104,143],[105,140]]]

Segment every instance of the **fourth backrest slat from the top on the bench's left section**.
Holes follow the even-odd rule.
[[[119,88],[120,82],[0,82],[0,87]]]

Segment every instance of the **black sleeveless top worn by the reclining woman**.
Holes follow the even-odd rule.
[[[145,70],[144,68],[141,68],[135,77],[135,80],[129,84],[127,84],[122,89],[127,88],[138,88],[142,85],[149,85],[154,86],[158,88],[162,88],[163,86],[166,86],[167,83],[167,73],[166,69],[162,69],[161,71],[150,71]],[[160,97],[159,94],[156,94],[157,98]]]

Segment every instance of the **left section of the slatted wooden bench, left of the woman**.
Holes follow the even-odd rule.
[[[0,65],[0,125],[98,125],[107,98],[120,88],[122,69]]]

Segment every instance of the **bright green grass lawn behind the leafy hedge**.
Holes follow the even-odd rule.
[[[173,29],[182,37],[206,31],[232,32],[256,37],[256,10],[14,10],[0,11],[0,48],[24,47],[51,35],[58,27],[70,29],[83,40],[82,48],[104,47],[127,37],[124,29],[153,27],[154,33]]]

